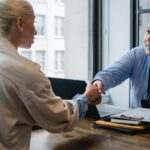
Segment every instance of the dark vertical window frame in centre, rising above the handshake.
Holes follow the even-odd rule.
[[[93,76],[102,70],[102,0],[88,0],[89,22],[88,22],[88,53],[89,53],[89,75]]]

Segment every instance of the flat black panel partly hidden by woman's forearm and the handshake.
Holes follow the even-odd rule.
[[[86,82],[83,80],[64,79],[48,77],[56,96],[63,99],[72,99],[77,93],[82,94],[86,89]],[[98,119],[99,114],[96,106],[89,105],[86,113],[87,118]]]

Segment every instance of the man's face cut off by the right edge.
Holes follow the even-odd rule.
[[[144,36],[144,44],[145,44],[146,54],[150,55],[150,24],[148,25],[146,34]]]

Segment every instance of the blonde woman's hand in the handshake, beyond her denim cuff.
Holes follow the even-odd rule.
[[[95,85],[87,85],[86,91],[83,93],[83,95],[87,96],[88,103],[91,105],[97,105],[101,102],[100,93]]]

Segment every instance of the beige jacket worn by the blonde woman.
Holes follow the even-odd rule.
[[[78,121],[77,103],[56,97],[40,66],[0,38],[0,150],[28,150],[33,125],[65,132]]]

